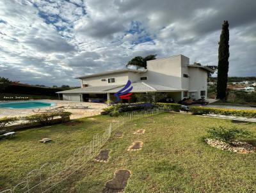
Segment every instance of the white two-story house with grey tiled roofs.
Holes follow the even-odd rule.
[[[207,97],[207,73],[214,72],[206,66],[189,65],[183,55],[147,61],[147,69],[121,69],[78,77],[81,88],[60,91],[63,100],[78,102],[115,101],[114,94],[128,80],[132,82],[132,93],[166,93],[175,102],[183,98]],[[130,101],[134,102],[134,95]]]

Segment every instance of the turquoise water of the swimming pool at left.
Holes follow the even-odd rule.
[[[0,103],[0,109],[33,109],[40,107],[51,107],[54,106],[51,102],[40,102],[40,101],[25,101],[25,102],[2,102]]]

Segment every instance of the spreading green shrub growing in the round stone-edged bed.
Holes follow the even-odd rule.
[[[231,143],[235,139],[252,136],[251,132],[239,128],[212,127],[207,130],[210,138]]]

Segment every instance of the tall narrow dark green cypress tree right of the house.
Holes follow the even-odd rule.
[[[228,58],[229,58],[229,30],[228,21],[222,24],[222,31],[219,42],[219,62],[218,62],[218,81],[217,98],[227,99],[227,81],[228,81]]]

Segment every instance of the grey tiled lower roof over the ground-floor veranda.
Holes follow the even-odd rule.
[[[77,89],[70,89],[67,91],[60,91],[57,93],[63,94],[72,94],[72,93],[116,93],[124,85],[111,85],[111,86],[88,86],[85,88],[77,88]],[[140,92],[168,92],[168,91],[184,91],[185,89],[180,88],[171,88],[168,86],[163,86],[159,84],[154,84],[151,82],[132,82],[132,93],[140,93]]]

